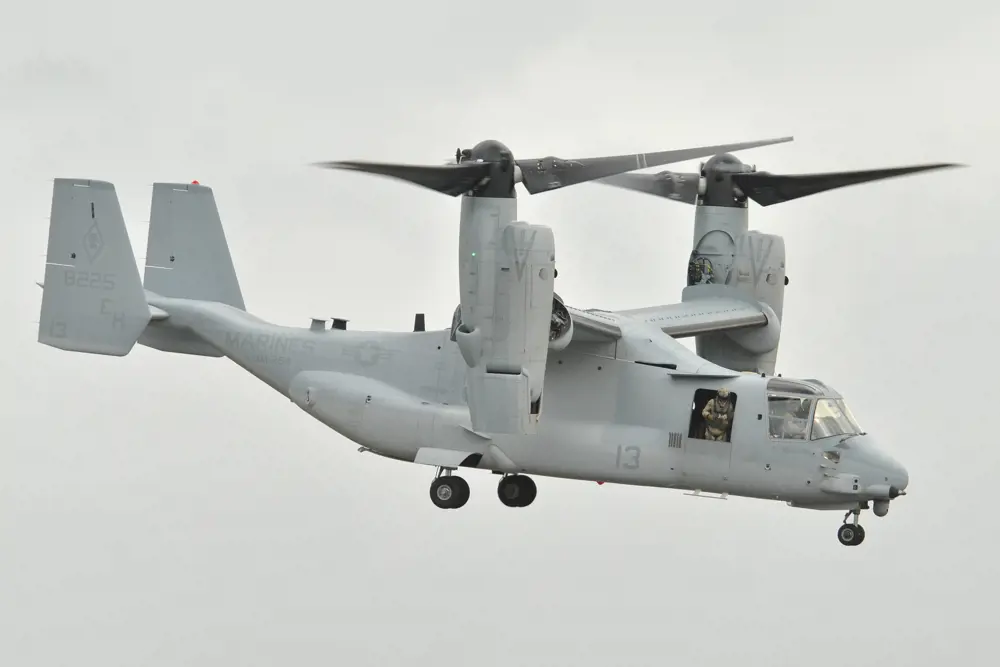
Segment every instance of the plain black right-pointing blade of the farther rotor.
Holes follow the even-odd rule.
[[[780,204],[799,197],[834,190],[848,185],[858,185],[884,178],[906,176],[921,171],[947,169],[964,165],[951,162],[893,167],[891,169],[868,169],[865,171],[840,171],[827,174],[769,174],[766,171],[748,174],[733,174],[732,179],[744,194],[761,206]]]

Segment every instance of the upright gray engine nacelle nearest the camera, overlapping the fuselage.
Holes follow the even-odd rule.
[[[555,238],[542,225],[505,223],[514,205],[462,201],[454,336],[468,366],[472,427],[484,433],[534,432],[551,342]]]

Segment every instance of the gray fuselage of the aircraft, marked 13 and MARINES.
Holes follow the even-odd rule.
[[[571,344],[549,356],[536,434],[479,434],[471,429],[464,398],[466,365],[449,330],[311,330],[270,324],[219,303],[152,293],[147,298],[170,313],[150,324],[151,338],[157,329],[170,336],[180,330],[194,334],[316,419],[390,458],[444,466],[451,452],[455,467],[766,498],[816,509],[850,509],[908,483],[906,470],[860,429],[817,437],[829,431],[814,427],[809,433],[810,414],[797,439],[771,434],[773,405],[783,399],[811,401],[814,411],[817,402],[843,405],[839,394],[817,381],[672,374]],[[642,344],[652,342],[650,336],[669,339],[652,328],[640,332],[627,335],[641,335]],[[627,346],[626,340],[617,344]],[[693,419],[704,397],[723,386],[734,399],[728,439],[698,437]]]

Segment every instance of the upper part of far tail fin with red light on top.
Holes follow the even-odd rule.
[[[161,296],[246,310],[212,188],[153,184],[143,284]]]

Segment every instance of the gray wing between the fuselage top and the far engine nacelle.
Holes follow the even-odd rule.
[[[702,298],[685,303],[616,310],[616,315],[655,324],[673,338],[687,338],[713,331],[748,329],[767,324],[760,306],[726,297]],[[576,317],[576,313],[573,314]],[[574,322],[574,326],[577,326]]]

